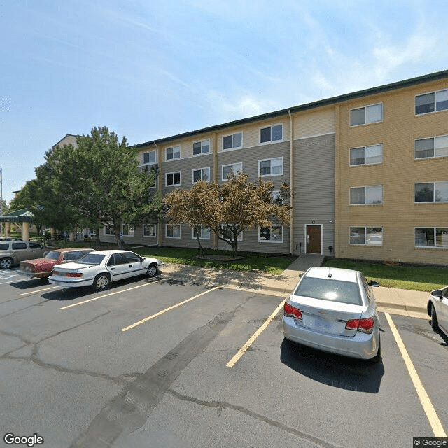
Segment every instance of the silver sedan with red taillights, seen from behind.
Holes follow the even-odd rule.
[[[314,349],[381,360],[379,318],[372,286],[361,272],[311,267],[283,308],[283,335]]]

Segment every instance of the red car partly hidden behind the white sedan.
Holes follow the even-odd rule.
[[[51,275],[55,265],[62,265],[63,263],[79,260],[86,253],[92,251],[94,249],[87,247],[55,249],[46,253],[44,258],[21,261],[18,273],[30,279],[45,279]]]

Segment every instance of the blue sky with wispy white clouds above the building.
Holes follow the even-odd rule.
[[[3,199],[65,134],[130,144],[448,69],[446,0],[11,0]]]

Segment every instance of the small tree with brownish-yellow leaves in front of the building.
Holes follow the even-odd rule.
[[[286,184],[274,194],[271,181],[260,178],[253,183],[248,174],[239,173],[230,175],[222,185],[199,181],[190,190],[175,190],[165,197],[165,205],[172,223],[210,228],[218,239],[232,247],[236,256],[238,237],[244,230],[279,223],[288,225],[289,196]]]

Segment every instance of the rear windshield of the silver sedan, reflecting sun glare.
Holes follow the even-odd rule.
[[[363,304],[358,283],[351,281],[341,281],[332,279],[315,279],[305,277],[295,290],[294,295],[303,295],[313,299],[330,300],[331,302],[341,302],[360,305]]]

